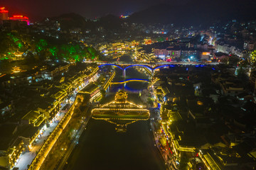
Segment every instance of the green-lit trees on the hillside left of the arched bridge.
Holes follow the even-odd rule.
[[[78,42],[65,42],[57,38],[21,34],[16,31],[0,33],[0,60],[11,60],[20,52],[31,60],[65,60],[80,62],[84,59],[97,60],[100,53],[93,47]]]

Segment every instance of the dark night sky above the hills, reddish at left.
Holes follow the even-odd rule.
[[[188,0],[1,0],[9,13],[23,14],[35,20],[62,13],[78,13],[87,18],[127,15],[155,4],[181,3]]]

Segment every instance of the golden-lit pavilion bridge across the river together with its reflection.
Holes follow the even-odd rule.
[[[149,110],[127,101],[127,93],[124,91],[117,92],[114,101],[92,109],[92,118],[114,123],[117,132],[125,132],[128,124],[148,120],[149,116]]]

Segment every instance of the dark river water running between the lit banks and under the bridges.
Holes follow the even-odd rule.
[[[121,60],[130,60],[123,57]],[[122,70],[116,69],[113,81],[124,80]],[[142,71],[129,68],[125,79],[149,79]],[[147,88],[147,82],[128,82],[114,85],[102,101],[112,100],[119,89],[128,92],[128,100],[142,103],[138,93]],[[68,159],[65,169],[166,169],[159,150],[154,145],[149,120],[127,126],[127,132],[118,133],[115,125],[104,120],[90,119]]]

